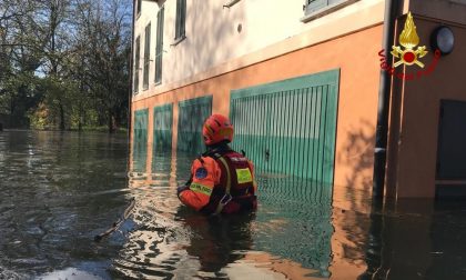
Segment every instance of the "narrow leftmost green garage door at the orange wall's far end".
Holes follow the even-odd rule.
[[[134,112],[133,130],[133,171],[145,172],[148,157],[148,116],[149,109]]]

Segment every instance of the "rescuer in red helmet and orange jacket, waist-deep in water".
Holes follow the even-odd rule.
[[[193,161],[191,178],[179,187],[178,197],[188,207],[207,214],[252,211],[257,207],[253,163],[232,150],[233,126],[222,114],[212,114],[202,127],[206,152]]]

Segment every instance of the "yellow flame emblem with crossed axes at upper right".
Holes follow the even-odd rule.
[[[399,59],[395,62],[394,67],[401,64],[412,66],[417,64],[421,68],[424,68],[424,63],[418,59],[427,54],[426,47],[419,46],[419,37],[416,32],[416,26],[414,24],[413,16],[408,12],[407,19],[405,21],[405,27],[399,34],[399,46],[392,46],[392,54]]]

